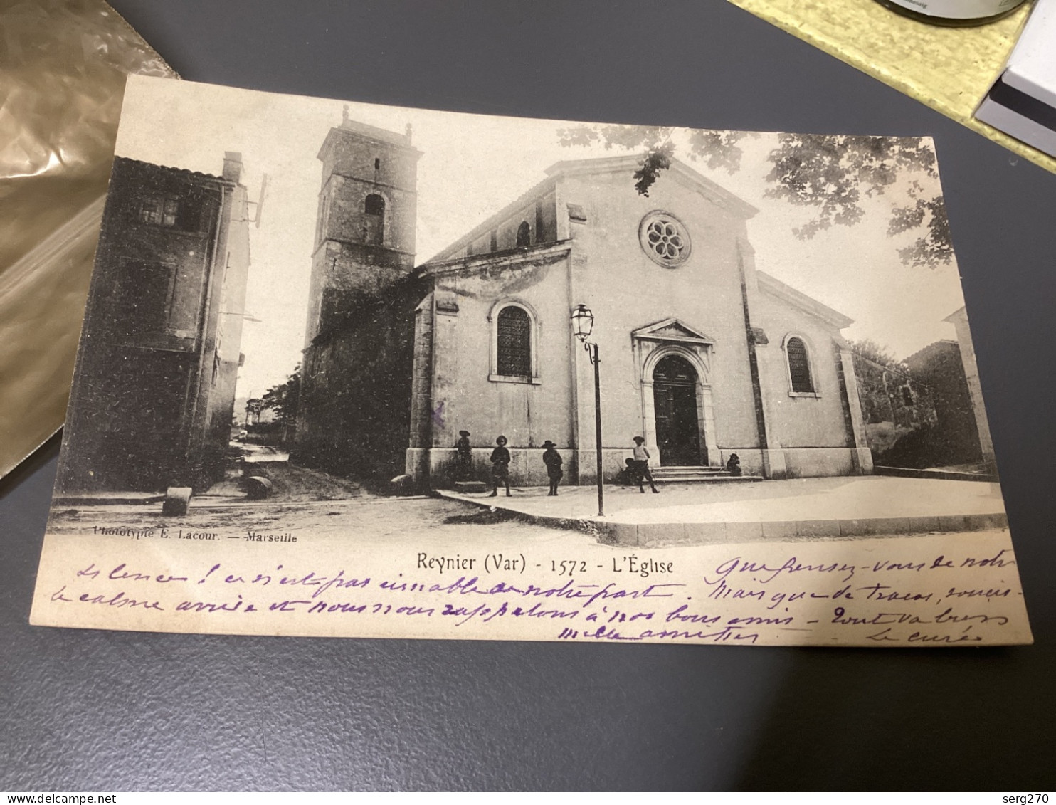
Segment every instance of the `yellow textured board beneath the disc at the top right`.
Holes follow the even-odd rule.
[[[1004,67],[1029,4],[988,25],[942,27],[874,0],[730,1],[1056,173],[1056,160],[973,116]]]

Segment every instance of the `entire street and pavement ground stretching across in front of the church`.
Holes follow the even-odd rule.
[[[247,501],[231,481],[225,482],[230,489],[221,484],[195,498],[185,518],[163,518],[157,503],[68,505],[53,509],[49,527],[56,532],[161,525],[228,533],[299,530],[385,542],[428,535],[430,541],[442,544],[470,526],[474,539],[486,544],[508,539],[598,539],[652,546],[955,532],[1007,525],[999,487],[981,482],[804,479],[665,485],[659,494],[606,486],[606,517],[598,518],[596,487],[563,487],[557,498],[547,497],[545,488],[517,488],[511,498],[452,492],[442,492],[444,500],[383,498],[353,482],[267,458],[271,461],[260,462],[253,470],[275,483],[275,494],[266,501]]]

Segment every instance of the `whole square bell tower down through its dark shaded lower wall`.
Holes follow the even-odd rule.
[[[417,162],[410,132],[350,120],[319,150],[316,240],[293,457],[402,472],[410,418]]]

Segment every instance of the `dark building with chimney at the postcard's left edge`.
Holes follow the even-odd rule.
[[[114,160],[58,491],[223,476],[249,270],[241,174],[237,153],[221,175]]]

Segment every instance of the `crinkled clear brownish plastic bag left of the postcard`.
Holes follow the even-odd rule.
[[[0,476],[65,415],[129,73],[177,77],[101,0],[0,0]]]

